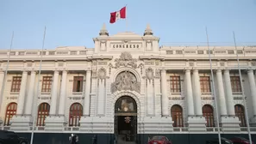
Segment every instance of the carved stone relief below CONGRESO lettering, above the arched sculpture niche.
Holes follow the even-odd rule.
[[[119,68],[121,66],[131,66],[134,69],[137,68],[137,59],[134,59],[129,52],[122,52],[120,58],[116,58],[115,62],[116,64],[113,68]]]

